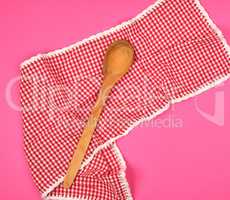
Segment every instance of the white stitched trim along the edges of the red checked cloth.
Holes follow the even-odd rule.
[[[141,12],[139,15],[137,15],[136,17],[132,18],[131,20],[128,20],[126,22],[123,22],[121,23],[120,25],[118,26],[115,26],[107,31],[104,31],[104,32],[101,32],[101,33],[98,33],[96,35],[93,35],[89,38],[86,38],[80,42],[77,42],[69,47],[66,47],[66,48],[63,48],[63,49],[59,49],[59,50],[56,50],[56,51],[53,51],[53,52],[50,52],[50,53],[47,53],[47,54],[39,54],[35,57],[32,57],[30,58],[29,60],[26,60],[25,62],[23,62],[21,64],[21,67],[25,67],[27,65],[29,65],[30,63],[38,60],[38,59],[41,59],[43,56],[48,56],[48,57],[52,57],[52,56],[58,56],[58,55],[61,55],[62,53],[65,53],[67,52],[68,50],[71,50],[72,48],[76,48],[84,43],[87,43],[91,40],[95,40],[95,39],[99,39],[100,37],[103,37],[103,36],[106,36],[107,34],[109,33],[112,33],[114,31],[117,31],[119,29],[121,29],[122,27],[124,26],[127,26],[129,24],[132,24],[134,21],[136,20],[140,20],[142,19],[145,15],[147,15],[149,12],[151,12],[152,10],[154,10],[156,7],[158,7],[159,5],[161,5],[163,2],[165,2],[166,0],[157,0],[153,5],[149,6],[147,9],[145,9],[143,12]],[[199,0],[195,0],[195,4],[197,6],[197,8],[200,10],[200,13],[201,15],[204,17],[205,20],[207,20],[207,22],[209,23],[210,27],[213,29],[213,31],[218,35],[220,41],[223,43],[223,46],[225,47],[225,50],[227,51],[228,53],[228,56],[230,57],[230,47],[229,45],[227,44],[227,41],[226,39],[224,38],[222,32],[220,31],[220,29],[214,24],[214,22],[211,20],[211,18],[209,17],[208,13],[206,12],[206,10],[204,9],[204,7],[200,4],[200,1]],[[164,111],[168,110],[168,108],[170,107],[171,104],[175,104],[175,103],[178,103],[178,102],[181,102],[181,101],[184,101],[184,100],[187,100],[191,97],[194,97],[196,95],[199,95],[211,88],[214,88],[215,86],[219,85],[220,83],[228,80],[230,78],[230,74],[228,74],[227,76],[224,76],[224,77],[219,77],[217,80],[213,81],[212,83],[210,84],[205,84],[203,85],[203,87],[201,87],[200,89],[196,90],[196,91],[193,91],[191,94],[188,94],[182,98],[177,98],[177,99],[173,99],[170,101],[169,104],[167,104],[164,108],[162,108],[161,110],[159,110],[158,112],[156,113],[153,113],[151,116],[149,117],[146,117],[146,118],[143,118],[139,121],[137,121],[133,126],[131,126],[127,131],[125,131],[122,135],[120,136],[117,136],[117,137],[114,137],[112,139],[110,139],[109,141],[107,141],[106,143],[104,143],[103,145],[97,147],[97,149],[95,149],[95,151],[86,159],[86,161],[82,164],[81,166],[81,169],[84,168],[87,164],[90,163],[90,161],[93,159],[93,157],[102,149],[110,146],[112,143],[114,143],[117,139],[127,135],[133,128],[135,128],[136,126],[138,126],[140,123],[144,122],[144,121],[148,121],[148,120],[151,120],[153,118],[155,118],[156,116],[160,115],[161,113],[163,113]],[[115,147],[116,149],[116,153],[118,155],[118,158],[119,160],[121,161],[121,166],[123,166],[124,168],[125,167],[125,162],[122,158],[122,155],[119,151],[119,149],[117,147]],[[128,186],[128,183],[127,183],[127,180],[125,178],[125,173],[122,172],[121,173],[121,181],[124,185],[124,187],[127,189],[127,200],[131,200],[132,199],[132,196],[131,196],[131,193],[130,193],[130,189],[129,189],[129,186]],[[42,198],[45,199],[45,200],[90,200],[90,199],[84,199],[84,198],[65,198],[65,197],[47,197],[47,195],[54,189],[56,188],[58,185],[60,185],[64,180],[64,176],[62,178],[60,178],[59,180],[57,180],[50,188],[48,188],[46,190],[46,192],[43,193],[42,195]],[[58,199],[57,199],[58,198]]]

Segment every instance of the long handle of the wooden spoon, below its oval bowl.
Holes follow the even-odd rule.
[[[69,168],[67,170],[66,176],[64,178],[64,187],[69,188],[74,179],[77,175],[82,160],[84,159],[84,156],[86,154],[86,151],[88,149],[88,146],[90,144],[91,138],[93,136],[93,132],[97,126],[97,122],[100,118],[100,114],[103,110],[103,106],[105,104],[105,101],[113,87],[113,85],[116,83],[116,78],[111,76],[106,76],[103,84],[101,86],[98,99],[95,103],[95,106],[93,107],[91,114],[89,116],[89,119],[86,123],[86,126],[83,130],[83,133],[80,137],[80,140],[77,144],[77,148],[73,154],[73,158],[69,164]]]

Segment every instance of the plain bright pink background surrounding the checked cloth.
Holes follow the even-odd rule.
[[[19,75],[19,63],[39,52],[65,47],[114,26],[153,2],[0,2],[0,199],[40,199],[24,157],[20,112],[7,100],[7,86]],[[202,0],[202,4],[230,42],[229,0]],[[158,117],[157,124],[151,121],[119,140],[135,199],[230,199],[229,88],[230,81],[177,104]],[[12,101],[18,105],[18,83],[11,92]],[[215,105],[220,115],[214,117],[214,122],[198,112],[199,108],[213,116]],[[223,106],[225,112],[221,115]],[[224,125],[217,125],[215,122],[221,122],[223,117]],[[170,127],[178,121],[182,127]]]

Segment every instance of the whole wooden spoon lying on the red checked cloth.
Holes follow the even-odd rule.
[[[81,162],[84,159],[103,106],[112,87],[128,72],[133,64],[133,60],[134,49],[128,41],[118,40],[109,46],[104,59],[104,80],[99,91],[99,96],[70,162],[67,174],[64,178],[64,188],[69,188],[72,185],[75,176],[80,169]]]

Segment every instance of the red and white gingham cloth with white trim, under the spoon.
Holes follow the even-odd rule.
[[[80,173],[62,186],[102,83],[115,40],[135,49],[131,70],[112,89]],[[114,142],[137,122],[212,88],[230,75],[226,41],[197,0],[158,0],[132,20],[21,65],[25,151],[45,199],[131,199]],[[107,148],[105,148],[107,147]]]

